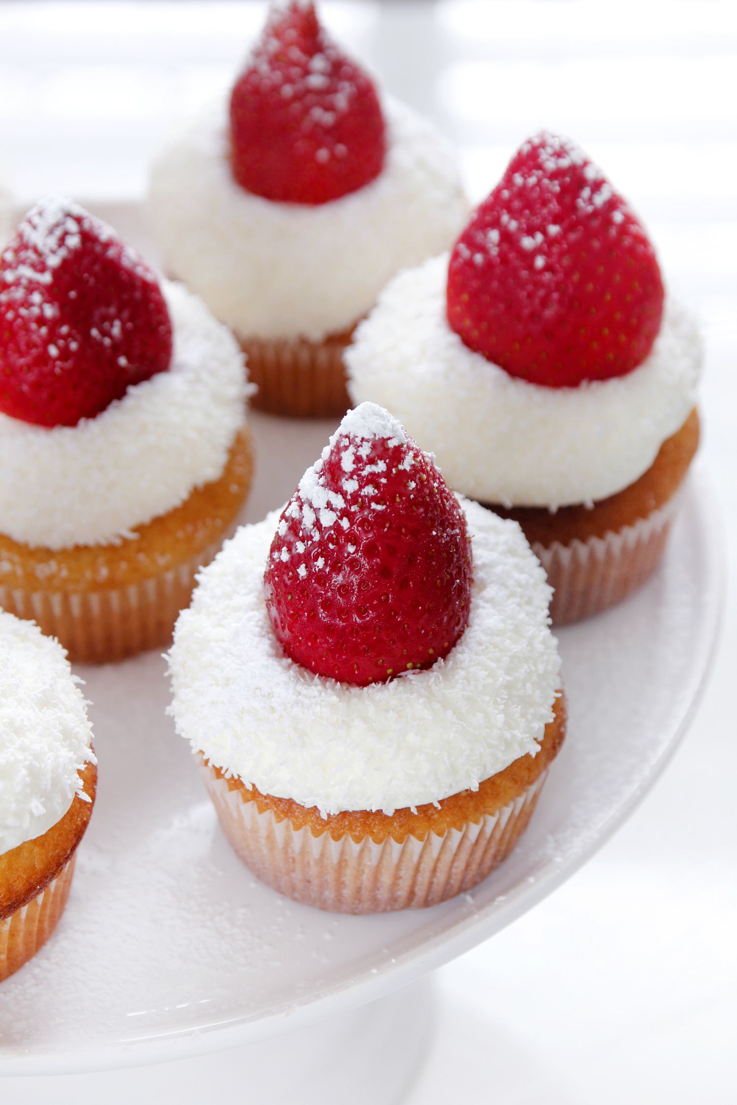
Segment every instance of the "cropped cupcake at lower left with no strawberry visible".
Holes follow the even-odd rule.
[[[56,927],[96,781],[64,650],[0,610],[0,982]]]

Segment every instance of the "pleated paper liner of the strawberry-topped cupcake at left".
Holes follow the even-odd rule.
[[[234,529],[176,568],[126,587],[29,591],[0,585],[0,608],[35,621],[64,645],[72,663],[107,663],[161,649],[171,640],[179,611],[189,606],[196,573]]]

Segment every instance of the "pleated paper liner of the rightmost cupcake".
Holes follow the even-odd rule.
[[[678,496],[646,518],[604,537],[575,538],[568,545],[533,543],[533,551],[554,588],[555,625],[601,613],[641,587],[661,561]]]

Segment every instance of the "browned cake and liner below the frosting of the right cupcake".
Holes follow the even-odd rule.
[[[544,507],[483,504],[522,526],[554,588],[554,624],[600,613],[650,578],[663,556],[698,434],[694,409],[639,480],[592,507],[564,506],[554,514]]]

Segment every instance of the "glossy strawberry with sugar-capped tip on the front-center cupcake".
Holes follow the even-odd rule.
[[[349,411],[282,512],[264,576],[288,656],[366,686],[448,655],[468,621],[459,502],[399,422]]]

